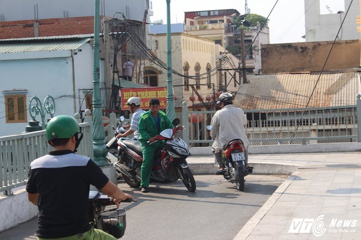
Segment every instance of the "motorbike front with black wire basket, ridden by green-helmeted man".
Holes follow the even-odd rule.
[[[131,202],[131,198],[125,200]],[[94,228],[108,232],[110,235],[121,238],[126,228],[126,211],[123,209],[105,210],[106,206],[115,205],[112,198],[100,194],[98,191],[89,192],[88,220]]]

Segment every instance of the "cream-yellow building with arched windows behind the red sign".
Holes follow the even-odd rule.
[[[167,62],[166,34],[150,35],[149,39],[148,46],[161,62],[145,61],[144,83],[150,86],[166,86],[167,75],[163,67]],[[190,107],[211,109],[214,105],[212,96],[221,90],[225,91],[225,85],[228,85],[227,91],[238,90],[239,74],[235,71],[238,59],[213,40],[173,33],[171,54],[176,108],[181,108],[182,102],[187,101]],[[232,76],[235,76],[236,80]]]

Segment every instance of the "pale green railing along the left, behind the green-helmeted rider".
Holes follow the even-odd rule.
[[[82,119],[75,115],[78,122]],[[117,121],[115,114],[110,114],[109,123],[104,127],[106,133],[105,142],[113,137],[113,128]],[[129,119],[125,119],[129,122]],[[77,154],[84,155],[93,159],[93,134],[92,118],[86,115],[83,123],[79,123],[83,132]],[[16,187],[24,186],[27,181],[29,165],[32,160],[46,155],[53,147],[48,144],[45,130],[28,132],[11,136],[0,137],[0,192],[4,195],[11,195],[11,190]]]

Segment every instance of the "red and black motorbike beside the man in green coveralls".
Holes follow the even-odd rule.
[[[196,190],[196,182],[188,167],[186,158],[190,155],[187,143],[174,135],[179,132],[179,118],[173,120],[173,129],[165,129],[155,136],[156,141],[165,141],[162,149],[157,149],[151,173],[151,182],[172,183],[179,178],[190,192]],[[140,141],[125,139],[118,141],[119,161],[114,163],[117,171],[131,187],[139,187],[140,167],[143,162]]]

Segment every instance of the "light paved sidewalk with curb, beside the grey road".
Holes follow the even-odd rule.
[[[213,163],[213,158],[191,156],[188,162],[202,161]],[[234,240],[361,239],[360,152],[256,154],[248,161],[298,169]]]

